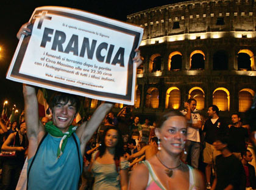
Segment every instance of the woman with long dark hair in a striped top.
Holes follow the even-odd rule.
[[[91,171],[95,177],[93,190],[127,190],[129,162],[124,160],[123,138],[115,126],[104,131],[104,142],[91,159]]]

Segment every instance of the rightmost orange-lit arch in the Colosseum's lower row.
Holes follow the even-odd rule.
[[[239,92],[239,111],[246,112],[252,105],[255,92],[252,89],[242,89]]]

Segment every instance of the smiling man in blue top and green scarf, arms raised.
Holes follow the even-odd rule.
[[[19,39],[22,34],[30,35],[28,25],[21,27]],[[139,66],[140,52],[135,52],[133,61]],[[52,121],[44,127],[38,118],[35,88],[24,85],[23,94],[29,139],[27,189],[77,189],[85,145],[112,104],[101,104],[91,119],[76,130],[71,123],[79,109],[79,100],[75,95],[58,93],[50,103]]]

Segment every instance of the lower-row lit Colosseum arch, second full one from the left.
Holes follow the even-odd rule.
[[[166,91],[165,108],[166,109],[180,108],[180,90],[177,87],[170,87]]]

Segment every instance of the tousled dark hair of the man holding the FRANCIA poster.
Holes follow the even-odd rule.
[[[54,106],[59,104],[61,101],[63,101],[64,104],[67,104],[70,101],[71,105],[76,107],[76,113],[80,109],[80,100],[76,95],[70,93],[55,92],[50,99],[49,107],[51,110],[53,110]]]

